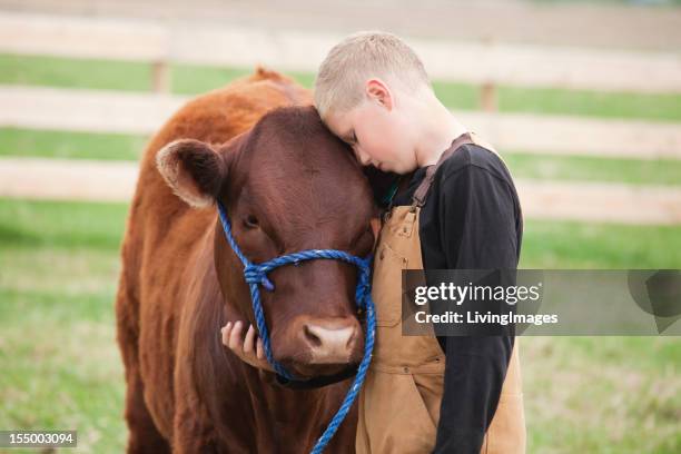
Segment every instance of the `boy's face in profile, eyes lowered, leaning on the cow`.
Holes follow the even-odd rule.
[[[387,86],[372,79],[367,81],[364,100],[348,111],[329,114],[326,126],[353,148],[363,166],[407,174],[417,165],[412,125],[404,114]]]

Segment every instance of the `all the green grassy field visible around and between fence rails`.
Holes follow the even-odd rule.
[[[174,66],[193,95],[249,69]],[[309,87],[313,76],[293,75]],[[0,85],[150,90],[150,67],[0,55]],[[435,81],[452,108],[477,89]],[[507,112],[681,121],[681,96],[501,87]],[[135,160],[147,138],[0,128],[0,156]],[[522,151],[522,150],[521,150]],[[680,185],[681,162],[505,154],[519,178]],[[125,446],[114,295],[127,205],[0,199],[0,428],[77,428],[78,452]],[[526,219],[524,268],[680,268],[681,226]],[[523,338],[531,453],[681,452],[681,340]],[[16,452],[16,451],[12,451]]]

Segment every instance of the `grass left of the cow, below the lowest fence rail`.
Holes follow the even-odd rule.
[[[124,451],[114,296],[126,213],[0,201],[0,427],[78,430],[77,452]]]

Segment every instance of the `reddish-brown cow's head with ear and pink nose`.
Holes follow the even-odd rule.
[[[253,263],[305,249],[367,256],[374,245],[371,189],[351,150],[313,107],[264,116],[221,146],[178,140],[158,155],[165,179],[189,205],[228,211],[239,248]],[[375,219],[374,219],[375,220]],[[215,261],[228,305],[255,326],[243,266],[216,216]],[[304,377],[334,374],[362,358],[354,300],[356,268],[314,259],[269,273],[261,288],[275,358]]]

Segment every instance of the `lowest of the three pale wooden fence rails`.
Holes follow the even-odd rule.
[[[138,165],[68,159],[0,159],[0,197],[129,201]],[[516,180],[523,213],[537,219],[681,224],[681,189]]]

